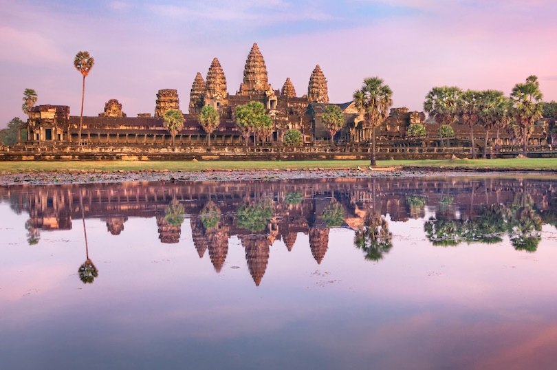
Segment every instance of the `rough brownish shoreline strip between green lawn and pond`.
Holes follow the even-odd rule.
[[[24,173],[1,173],[0,186],[14,185],[62,185],[125,182],[236,182],[270,181],[283,179],[338,179],[338,178],[384,178],[384,177],[477,177],[501,175],[528,175],[548,177],[557,171],[517,168],[466,168],[466,167],[360,167],[356,168],[306,168],[306,169],[247,169],[247,170],[200,170],[200,171],[101,171],[61,170],[31,171]]]

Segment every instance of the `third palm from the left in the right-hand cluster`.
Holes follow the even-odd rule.
[[[485,128],[485,142],[482,155],[482,158],[485,159],[488,157],[488,140],[490,130],[497,129],[497,133],[499,134],[499,127],[501,127],[501,122],[504,122],[505,120],[508,103],[503,91],[497,90],[481,91],[478,96],[478,103],[478,122]]]

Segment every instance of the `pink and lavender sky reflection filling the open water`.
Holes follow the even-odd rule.
[[[27,215],[0,204],[0,358],[30,368],[547,368],[556,360],[555,228],[535,253],[433,247],[423,220],[391,221],[379,263],[333,229],[317,265],[307,235],[281,241],[256,287],[237,237],[219,274],[199,259],[189,219],[177,244],[155,219],[118,236],[87,219],[99,276],[78,279],[83,224],[25,241]],[[232,268],[239,266],[239,268]]]

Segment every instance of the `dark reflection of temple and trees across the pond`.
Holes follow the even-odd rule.
[[[8,186],[0,188],[0,199],[15,213],[28,213],[22,227],[30,245],[40,243],[41,232],[72,229],[72,220],[82,215],[84,224],[99,219],[115,236],[126,232],[131,218],[153,219],[161,243],[180,243],[189,219],[199,258],[208,254],[220,272],[230,237],[236,236],[259,285],[276,241],[290,251],[299,233],[307,235],[320,264],[331,228],[354,230],[348,243],[370,261],[384,259],[393,248],[389,223],[408,219],[424,220],[433,246],[508,237],[516,250],[534,252],[541,227],[557,225],[556,188],[557,182],[527,177],[135,182]]]

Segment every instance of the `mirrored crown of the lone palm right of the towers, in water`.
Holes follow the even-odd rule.
[[[368,213],[364,219],[364,226],[356,230],[354,246],[365,253],[365,259],[380,261],[383,254],[393,248],[391,239],[393,233],[389,231],[389,224],[379,213]]]

